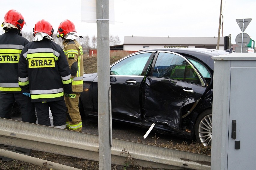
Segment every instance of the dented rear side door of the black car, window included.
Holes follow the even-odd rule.
[[[178,53],[158,51],[143,85],[143,119],[178,130],[184,111],[206,90],[191,62]]]

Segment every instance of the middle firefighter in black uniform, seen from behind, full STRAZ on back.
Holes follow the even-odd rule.
[[[19,85],[31,95],[39,125],[66,129],[64,95],[72,93],[69,64],[62,48],[53,42],[53,27],[42,19],[35,24],[33,41],[27,44],[19,60]]]

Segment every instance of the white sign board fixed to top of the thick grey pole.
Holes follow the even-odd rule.
[[[104,9],[104,7],[103,7]],[[96,0],[81,1],[82,22],[96,23]],[[109,0],[109,23],[114,24],[114,0]]]

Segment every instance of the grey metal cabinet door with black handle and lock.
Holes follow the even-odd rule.
[[[255,73],[255,67],[231,67],[228,170],[255,169],[256,166]],[[236,139],[231,138],[232,120],[236,120]],[[240,149],[235,149],[235,141],[240,141]]]

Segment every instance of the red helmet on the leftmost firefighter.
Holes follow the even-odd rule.
[[[4,22],[10,23],[18,27],[20,30],[23,28],[23,25],[26,23],[24,17],[16,10],[9,10],[5,14]],[[3,22],[3,23],[4,23]]]

